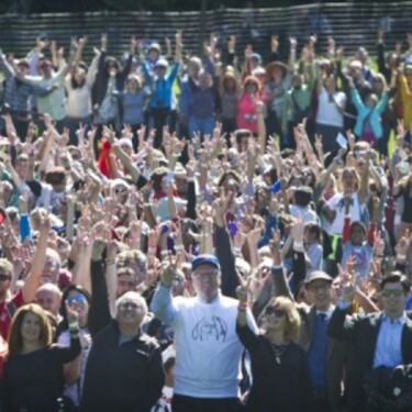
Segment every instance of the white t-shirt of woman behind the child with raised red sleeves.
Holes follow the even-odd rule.
[[[342,235],[345,223],[345,197],[343,193],[334,194],[329,201],[327,205],[336,212],[335,220],[332,223],[324,224],[324,230],[327,233]],[[352,193],[350,222],[360,221],[365,205],[359,203],[358,193]]]

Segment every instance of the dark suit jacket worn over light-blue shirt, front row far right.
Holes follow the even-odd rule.
[[[347,364],[347,407],[349,412],[366,410],[365,374],[372,369],[375,349],[383,313],[348,316],[336,308],[329,323],[331,337],[352,343],[352,358]],[[412,364],[412,320],[407,316],[402,331],[403,364]]]

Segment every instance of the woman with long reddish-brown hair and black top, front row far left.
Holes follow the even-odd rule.
[[[67,308],[69,347],[52,344],[46,312],[35,303],[15,313],[4,364],[4,410],[56,412],[63,392],[63,365],[80,353],[77,313]]]

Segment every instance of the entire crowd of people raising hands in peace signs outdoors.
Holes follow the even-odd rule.
[[[407,44],[1,53],[0,411],[410,411]]]

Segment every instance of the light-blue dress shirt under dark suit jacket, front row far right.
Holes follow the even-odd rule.
[[[374,368],[378,366],[393,368],[403,363],[401,339],[404,323],[404,313],[393,321],[383,314],[375,348]]]

